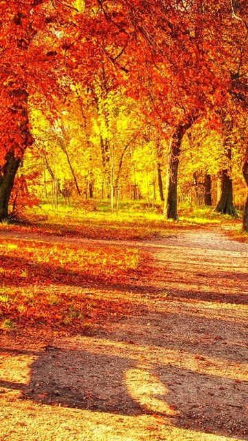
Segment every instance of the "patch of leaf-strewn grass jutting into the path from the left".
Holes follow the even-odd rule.
[[[136,249],[25,240],[0,240],[0,256],[1,322],[40,329],[79,329],[130,308],[111,301],[109,284],[127,287],[144,258]],[[91,300],[90,291],[104,287],[110,300]]]

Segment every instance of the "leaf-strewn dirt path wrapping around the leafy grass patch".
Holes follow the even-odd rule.
[[[0,440],[248,440],[248,245],[218,229],[107,243],[149,253],[142,279],[84,287],[127,310],[50,345],[0,338]]]

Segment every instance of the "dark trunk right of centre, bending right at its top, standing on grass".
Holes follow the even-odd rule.
[[[192,120],[193,123],[193,120]],[[178,183],[178,164],[180,146],[185,132],[191,127],[192,123],[181,124],[176,127],[169,145],[169,161],[167,168],[167,183],[165,191],[164,216],[167,219],[178,220],[177,212],[177,183]]]

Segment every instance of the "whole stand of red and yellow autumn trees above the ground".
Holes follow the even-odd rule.
[[[248,229],[245,0],[0,6],[1,220],[132,198],[245,203]]]

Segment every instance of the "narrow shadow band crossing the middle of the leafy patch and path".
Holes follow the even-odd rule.
[[[93,275],[87,271],[74,271],[66,269],[60,265],[50,265],[49,263],[32,264],[30,260],[24,258],[6,257],[1,258],[1,267],[9,269],[14,267],[21,274],[23,268],[28,268],[28,277],[14,276],[13,278],[5,278],[3,274],[0,274],[1,280],[6,287],[26,287],[37,283],[51,283],[56,285],[74,286],[74,287],[91,287],[100,288],[105,290],[118,290],[118,291],[136,291],[137,293],[149,294],[163,294],[165,287],[161,285],[166,284],[166,291],[173,298],[185,298],[192,300],[207,300],[220,303],[235,303],[240,305],[248,305],[248,291],[247,291],[247,274],[245,272],[229,272],[218,271],[215,277],[208,280],[207,274],[189,274],[188,279],[178,277],[174,271],[165,271],[165,275],[160,277],[160,285],[155,277],[152,278],[154,268],[147,267],[144,274],[141,270],[130,269],[127,271],[120,271],[119,277],[116,279],[116,275],[105,277],[104,274]],[[201,281],[199,280],[201,278]],[[207,288],[209,291],[203,289],[193,289],[192,283],[196,282],[202,287]],[[227,279],[228,288],[230,292],[222,289],[222,280]],[[117,280],[117,281],[116,281]],[[236,282],[236,289],[238,291],[231,291],[231,280]],[[180,286],[176,289],[171,285],[174,283],[180,283]]]

